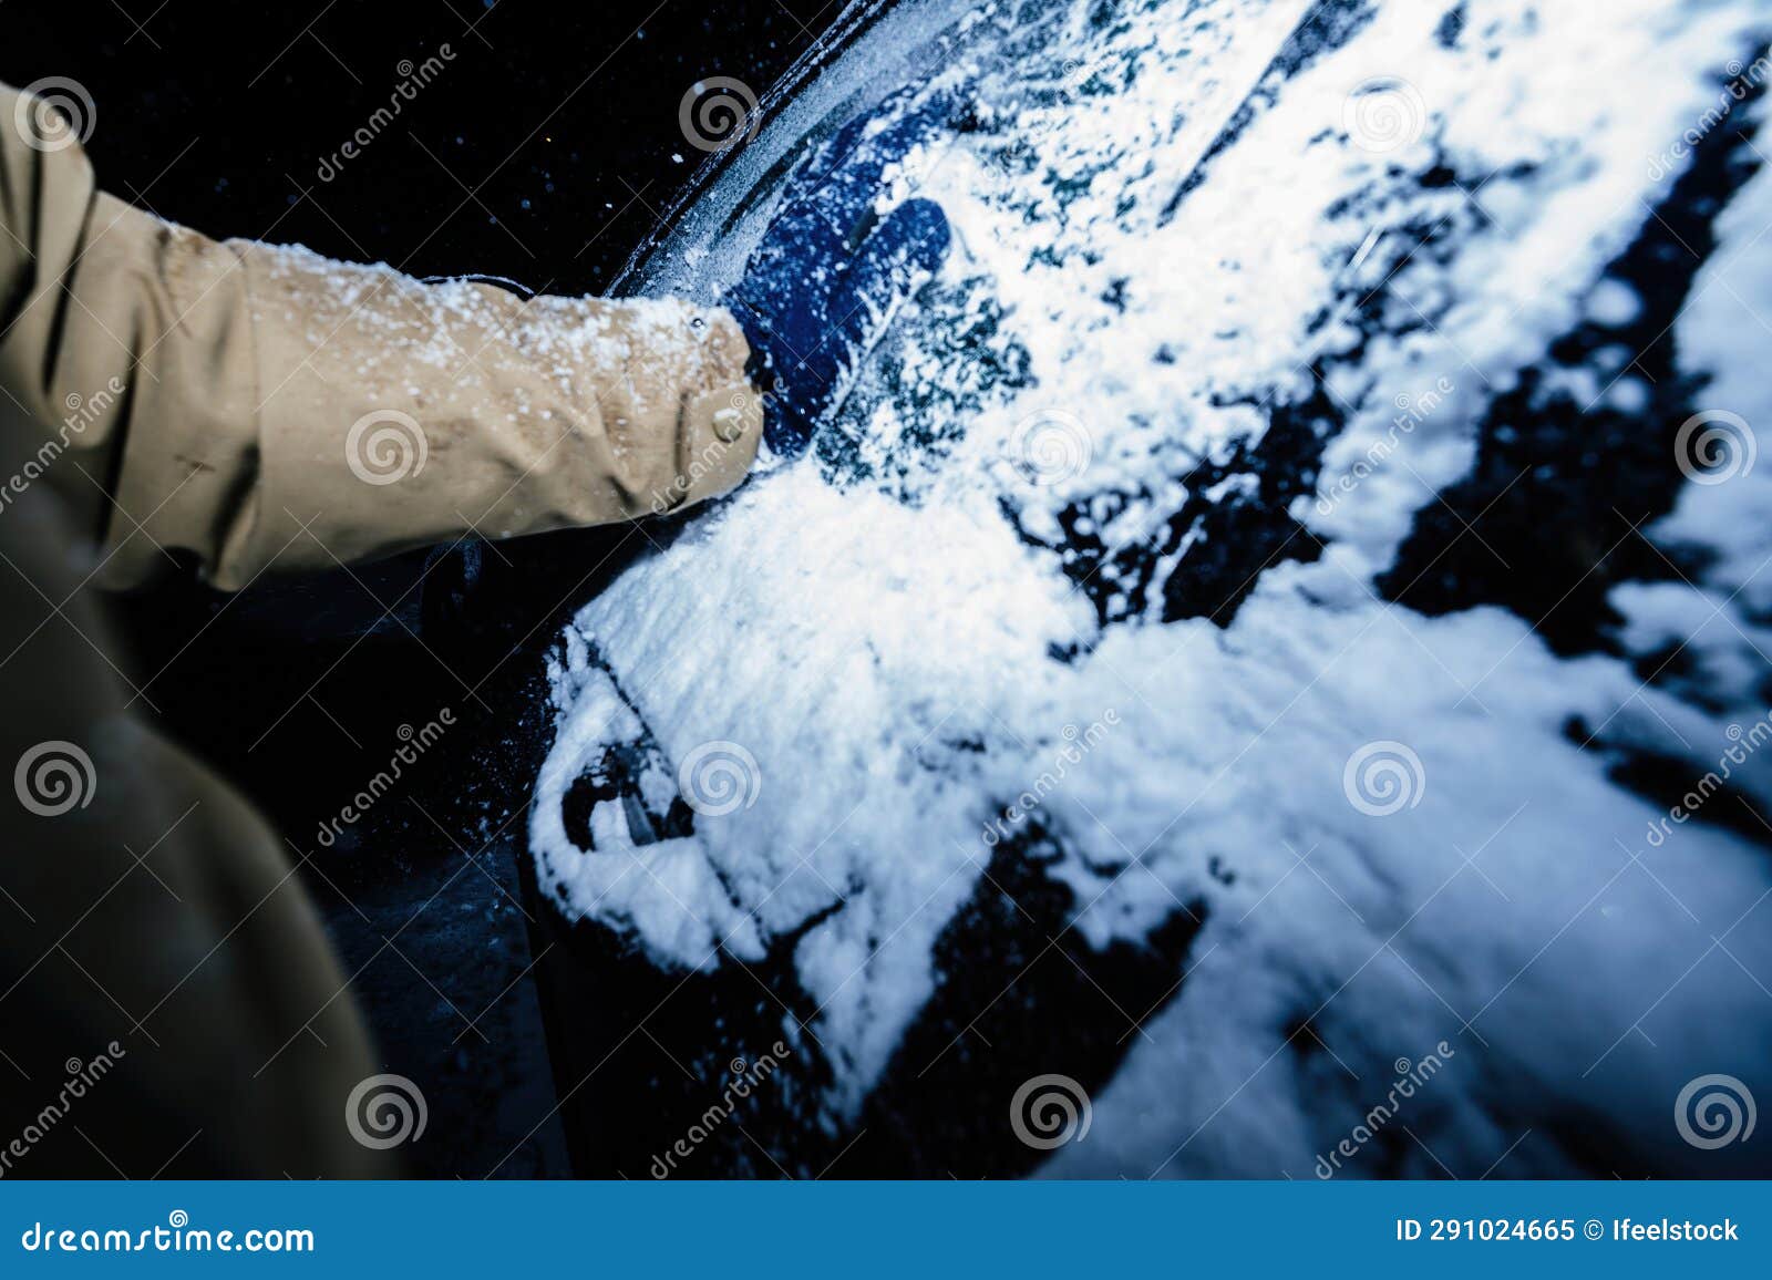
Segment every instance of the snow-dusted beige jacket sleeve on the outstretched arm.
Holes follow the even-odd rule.
[[[750,470],[762,410],[727,312],[216,243],[97,191],[35,106],[0,85],[0,390],[101,581],[188,553],[237,589],[656,514]]]

